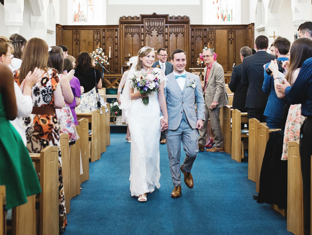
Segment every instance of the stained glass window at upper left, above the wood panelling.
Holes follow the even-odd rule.
[[[103,22],[103,0],[72,0],[72,22]]]

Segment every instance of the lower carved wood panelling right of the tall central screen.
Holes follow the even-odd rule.
[[[191,65],[197,68],[197,58],[204,46],[210,44],[217,53],[217,62],[224,71],[232,71],[233,63],[241,63],[239,51],[243,46],[254,48],[254,24],[249,25],[191,25]]]

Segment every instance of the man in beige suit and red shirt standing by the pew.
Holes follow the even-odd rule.
[[[203,86],[205,98],[205,122],[199,130],[198,148],[204,150],[206,143],[206,128],[208,119],[211,123],[212,132],[215,135],[215,146],[206,149],[208,152],[223,152],[223,135],[220,125],[220,107],[229,103],[227,92],[224,84],[224,70],[222,65],[213,60],[213,52],[205,50],[203,53],[204,63],[206,64],[204,74],[205,81]]]

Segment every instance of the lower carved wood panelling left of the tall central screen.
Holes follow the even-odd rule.
[[[76,59],[82,51],[91,53],[99,43],[105,55],[109,56],[111,49],[110,65],[106,69],[118,73],[118,25],[56,25],[56,45],[68,46],[68,54]]]

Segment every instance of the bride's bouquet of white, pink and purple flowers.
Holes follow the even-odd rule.
[[[137,89],[140,94],[151,94],[152,92],[158,92],[159,79],[157,78],[158,72],[152,73],[146,72],[144,69],[134,71],[134,74],[130,78],[130,87]],[[142,102],[145,105],[149,104],[149,97],[143,97]]]

